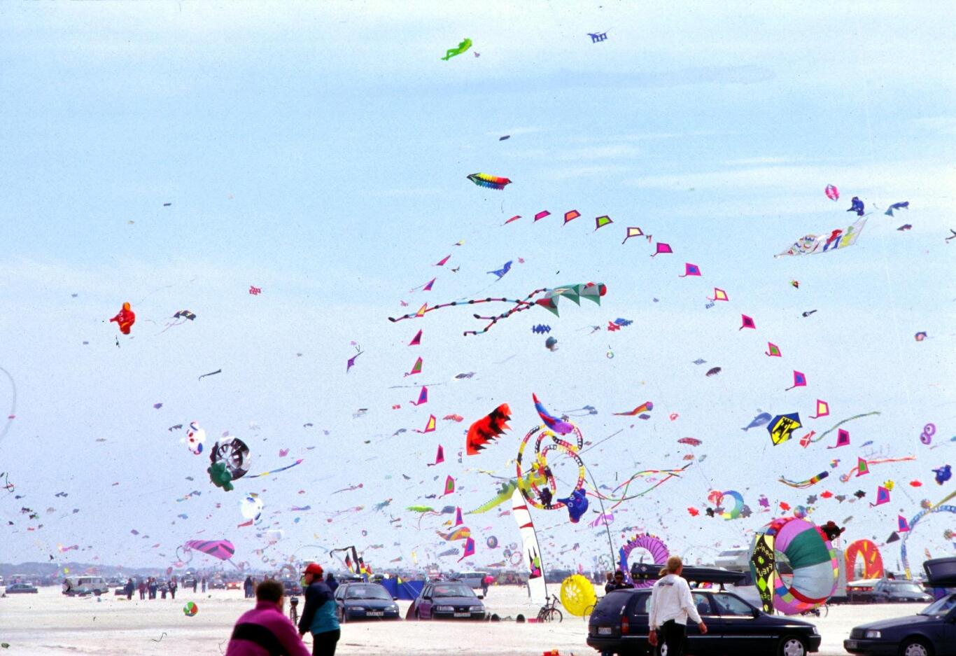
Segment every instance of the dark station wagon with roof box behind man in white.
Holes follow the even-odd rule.
[[[806,656],[820,647],[820,636],[809,622],[768,615],[723,590],[691,590],[697,612],[707,626],[702,635],[687,621],[687,653],[772,654]],[[587,644],[602,656],[643,656],[660,653],[647,642],[649,589],[616,590],[597,602],[588,624]]]

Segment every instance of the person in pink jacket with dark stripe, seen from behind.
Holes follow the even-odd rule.
[[[285,615],[282,583],[264,580],[255,588],[255,608],[232,629],[226,656],[311,656]]]

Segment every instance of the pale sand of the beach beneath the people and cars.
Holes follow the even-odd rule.
[[[556,591],[556,589],[555,589]],[[226,650],[232,624],[250,601],[242,591],[214,590],[206,594],[177,594],[176,601],[133,601],[103,597],[68,599],[59,588],[40,588],[36,595],[0,599],[0,650],[2,656],[220,656]],[[194,601],[199,614],[186,617],[183,606]],[[486,600],[489,610],[501,616],[537,608],[527,602],[525,589],[495,586]],[[402,612],[407,601],[400,602]],[[827,618],[814,620],[823,637],[820,654],[845,654],[843,640],[858,623],[912,615],[922,604],[835,606]],[[163,633],[165,635],[163,636]],[[154,642],[156,640],[160,642]],[[539,656],[559,649],[569,654],[593,655],[585,644],[587,623],[566,617],[563,623],[348,623],[342,627],[338,654],[488,654],[489,656]],[[311,645],[310,645],[311,646]]]

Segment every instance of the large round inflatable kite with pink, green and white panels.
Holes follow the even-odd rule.
[[[771,538],[772,542],[767,545]],[[761,545],[787,557],[793,574],[781,575],[771,555],[771,572],[758,572],[753,556]],[[758,590],[773,591],[773,607],[785,615],[796,615],[826,603],[836,592],[839,563],[836,550],[813,522],[798,517],[774,519],[759,529],[750,550],[750,569]],[[766,559],[766,555],[764,556]],[[768,576],[768,575],[771,576]]]

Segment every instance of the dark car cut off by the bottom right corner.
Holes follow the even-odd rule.
[[[947,595],[915,616],[860,624],[843,648],[851,654],[944,656],[956,653],[956,594]]]

